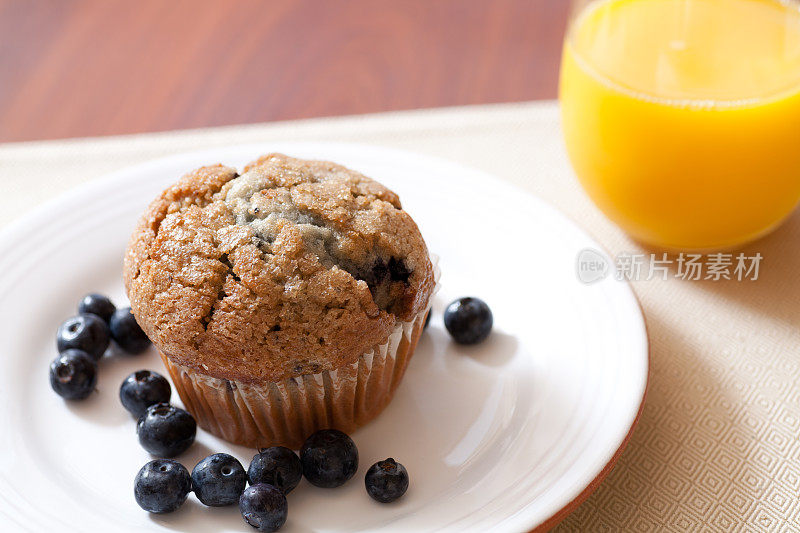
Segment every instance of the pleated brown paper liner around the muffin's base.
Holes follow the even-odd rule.
[[[433,258],[433,294],[438,290],[437,263]],[[413,320],[398,323],[383,344],[351,364],[277,382],[214,378],[170,361],[163,352],[161,359],[201,428],[251,448],[298,449],[319,429],[351,432],[383,411],[400,384],[429,311],[430,302]]]

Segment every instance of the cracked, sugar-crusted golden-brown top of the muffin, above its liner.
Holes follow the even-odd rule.
[[[428,250],[397,195],[326,161],[270,154],[183,176],[125,254],[137,321],[172,361],[278,381],[352,363],[424,311]]]

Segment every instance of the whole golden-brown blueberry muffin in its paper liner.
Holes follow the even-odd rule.
[[[255,448],[297,448],[380,413],[435,286],[395,193],[281,154],[165,190],[133,233],[124,278],[198,424]]]

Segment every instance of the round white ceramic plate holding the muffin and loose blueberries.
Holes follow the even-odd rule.
[[[372,146],[267,144],[160,159],[76,189],[0,235],[0,524],[5,531],[250,531],[234,506],[194,496],[150,516],[133,478],[151,458],[117,399],[135,370],[161,370],[151,349],[107,356],[98,393],[64,402],[50,390],[59,323],[97,291],[125,305],[122,255],[139,213],[202,164],[241,167],[282,151],[331,159],[394,189],[441,257],[434,318],[387,410],[358,430],[360,465],[340,489],[303,481],[284,531],[523,531],[576,505],[608,471],[635,424],[648,376],[640,308],[628,285],[575,274],[583,231],[536,198],[481,172]],[[495,318],[475,347],[450,341],[447,302],[474,295]],[[176,403],[180,403],[175,398]],[[225,451],[254,451],[198,431],[178,459],[191,470]],[[364,472],[394,457],[411,487],[381,505]],[[587,489],[588,488],[588,489]]]

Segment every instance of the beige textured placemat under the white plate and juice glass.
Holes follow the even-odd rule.
[[[0,146],[0,225],[127,165],[277,140],[363,142],[450,158],[556,205],[618,259],[645,253],[581,192],[549,102]],[[617,467],[561,530],[800,529],[799,234],[793,216],[741,250],[763,257],[756,281],[686,281],[673,265],[666,281],[634,283],[652,344],[645,408]]]

